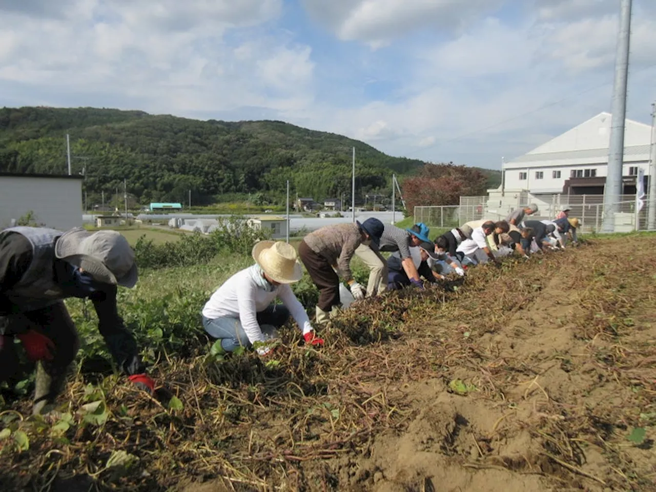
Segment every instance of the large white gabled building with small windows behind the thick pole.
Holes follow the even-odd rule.
[[[490,194],[603,195],[611,132],[609,113],[600,113],[522,157],[505,162],[502,188]],[[638,168],[649,174],[651,127],[626,120],[623,194],[634,194]]]

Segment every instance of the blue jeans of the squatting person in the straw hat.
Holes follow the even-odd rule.
[[[282,304],[271,304],[264,311],[258,312],[256,317],[264,336],[275,338],[276,328],[284,325],[289,319],[289,309]],[[226,352],[234,352],[237,347],[251,346],[239,318],[209,319],[203,316],[203,328],[209,335],[221,340],[221,346]]]

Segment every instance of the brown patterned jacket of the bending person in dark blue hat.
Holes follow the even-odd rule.
[[[338,274],[347,282],[353,278],[350,261],[361,239],[358,224],[325,226],[303,238],[314,253],[326,258],[331,265],[337,265]]]

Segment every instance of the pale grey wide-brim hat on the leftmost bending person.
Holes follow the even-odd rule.
[[[81,227],[74,228],[57,239],[54,255],[101,283],[131,289],[139,276],[132,247],[116,231],[91,233]]]

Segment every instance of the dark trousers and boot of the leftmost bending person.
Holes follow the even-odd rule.
[[[68,368],[79,350],[79,338],[64,302],[26,312],[23,316],[21,321],[10,321],[5,337],[0,337],[0,382],[12,385],[22,379],[14,335],[24,333],[26,329],[45,335],[52,340],[54,350],[52,360],[40,361],[41,367],[37,368],[34,400],[35,406],[43,407],[46,403],[53,403],[64,389]]]

